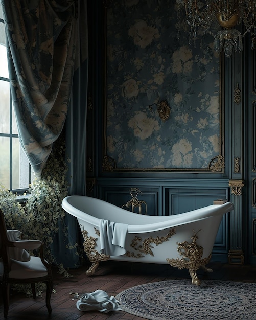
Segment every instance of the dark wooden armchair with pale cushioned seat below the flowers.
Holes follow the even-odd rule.
[[[35,299],[35,283],[37,282],[46,284],[45,302],[50,315],[52,312],[50,300],[53,291],[53,277],[50,264],[43,259],[43,243],[39,240],[10,241],[10,232],[6,229],[4,215],[0,210],[0,282],[2,282],[4,317],[7,318],[9,310],[10,284],[31,283]],[[19,233],[17,230],[12,232]],[[30,256],[26,251],[34,249],[39,249],[40,257]],[[20,259],[24,256],[26,259]]]

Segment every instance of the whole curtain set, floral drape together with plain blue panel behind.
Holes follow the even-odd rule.
[[[40,178],[53,143],[66,132],[69,194],[85,194],[88,75],[86,0],[1,0],[19,140]],[[81,243],[77,220],[59,220],[52,252],[77,267],[69,244]],[[67,226],[68,234],[64,231]]]

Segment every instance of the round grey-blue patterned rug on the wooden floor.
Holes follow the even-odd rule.
[[[256,284],[169,280],[139,285],[119,293],[120,307],[151,320],[256,319]]]

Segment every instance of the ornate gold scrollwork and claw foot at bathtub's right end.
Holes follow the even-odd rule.
[[[177,242],[178,253],[180,256],[184,256],[184,257],[181,259],[167,258],[166,260],[172,267],[177,267],[178,269],[183,269],[183,268],[189,269],[190,276],[192,278],[192,284],[196,284],[200,286],[201,281],[197,278],[196,271],[201,266],[204,266],[205,264],[207,264],[210,261],[212,255],[210,254],[207,258],[201,259],[203,255],[203,247],[196,243],[198,236],[197,236],[197,233],[195,234],[194,230],[193,230],[193,233],[194,233],[194,236],[191,237],[192,239],[191,243],[188,243],[187,241],[184,241],[181,243]]]

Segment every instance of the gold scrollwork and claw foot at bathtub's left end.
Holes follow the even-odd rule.
[[[107,261],[110,256],[100,254],[96,249],[96,240],[97,238],[88,236],[88,232],[86,230],[82,230],[83,238],[84,238],[84,252],[86,253],[87,258],[90,260],[92,265],[86,271],[87,276],[93,276],[95,270],[98,268],[100,261]]]

